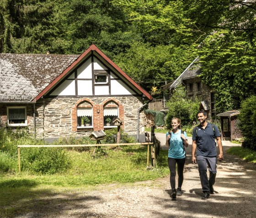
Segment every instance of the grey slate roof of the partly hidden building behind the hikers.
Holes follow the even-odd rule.
[[[170,89],[181,85],[181,80],[186,80],[198,76],[201,73],[201,66],[198,61],[199,56],[194,61],[192,61],[186,70],[183,71],[181,75],[171,84]]]

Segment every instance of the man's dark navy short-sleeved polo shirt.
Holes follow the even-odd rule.
[[[197,133],[196,127],[193,129],[192,141],[197,141],[197,156],[203,157],[216,157],[216,143],[215,137],[220,137],[219,129],[214,125],[215,136],[212,128],[212,124],[207,122],[207,126],[203,129],[198,126]],[[196,137],[197,135],[197,137]]]

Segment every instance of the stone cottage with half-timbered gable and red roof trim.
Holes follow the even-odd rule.
[[[39,138],[89,135],[115,128],[117,117],[139,134],[152,99],[95,45],[81,55],[0,54],[0,125]]]

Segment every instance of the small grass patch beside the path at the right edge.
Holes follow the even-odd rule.
[[[247,162],[256,163],[256,151],[251,151],[250,149],[243,147],[231,147],[227,152],[241,157]]]

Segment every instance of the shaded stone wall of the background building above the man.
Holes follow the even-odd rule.
[[[201,79],[199,77],[191,78],[191,79],[186,79],[183,81],[186,85],[186,95],[193,100],[196,98],[200,101],[205,101],[209,108],[209,118],[211,118],[212,114],[212,108],[211,108],[211,93],[212,90],[209,86],[201,82]],[[197,91],[197,82],[201,82],[201,91]],[[189,92],[189,84],[193,84],[193,89],[192,92]]]

